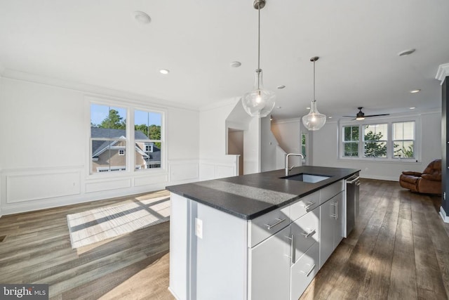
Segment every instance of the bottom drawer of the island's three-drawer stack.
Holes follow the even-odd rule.
[[[319,270],[319,247],[316,242],[290,267],[290,299],[299,299]]]

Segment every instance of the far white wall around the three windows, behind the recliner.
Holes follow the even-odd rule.
[[[423,171],[427,164],[441,158],[441,112],[430,112],[420,115],[422,137],[421,159],[419,162],[382,162],[377,159],[348,160],[338,157],[338,124],[327,122],[319,131],[314,132],[313,152],[314,166],[343,167],[361,169],[361,177],[398,181],[402,171]]]

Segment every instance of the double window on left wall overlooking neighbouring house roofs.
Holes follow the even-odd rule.
[[[126,117],[134,113],[135,124]],[[163,112],[91,103],[90,174],[162,167]],[[127,129],[128,128],[128,129]],[[127,136],[127,130],[131,136]],[[134,150],[130,149],[134,141]],[[129,153],[130,155],[127,155]],[[133,155],[134,153],[134,155]]]

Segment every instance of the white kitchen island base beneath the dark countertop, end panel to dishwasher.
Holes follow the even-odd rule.
[[[297,300],[342,240],[342,190],[338,181],[253,220],[172,193],[170,292]]]

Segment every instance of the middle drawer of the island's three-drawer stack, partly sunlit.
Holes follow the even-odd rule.
[[[311,245],[319,241],[319,215],[320,208],[316,207],[292,223],[291,234],[293,235],[293,249],[295,249],[293,261],[300,259]]]

